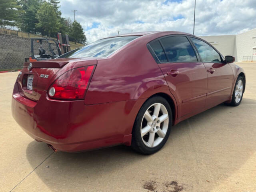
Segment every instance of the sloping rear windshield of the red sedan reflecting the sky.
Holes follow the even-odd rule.
[[[139,36],[125,36],[101,39],[84,47],[72,50],[58,58],[107,57],[138,37]]]

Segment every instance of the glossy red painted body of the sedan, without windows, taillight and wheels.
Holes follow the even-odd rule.
[[[160,63],[148,42],[182,32],[145,32],[108,58],[60,58],[24,63],[12,96],[12,115],[37,141],[57,150],[76,152],[131,144],[134,120],[142,104],[160,94],[172,107],[173,124],[222,102],[231,102],[236,78],[244,70],[223,63]],[[48,89],[60,75],[82,66],[96,66],[84,100],[56,100]],[[209,70],[209,71],[207,71]],[[215,70],[213,73],[212,70]],[[26,76],[34,75],[33,91]],[[49,75],[39,78],[40,74]],[[193,74],[193,75],[192,75]]]

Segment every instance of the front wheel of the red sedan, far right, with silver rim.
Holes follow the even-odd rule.
[[[235,87],[234,87],[233,95],[232,95],[232,101],[229,105],[230,106],[240,105],[243,95],[244,95],[244,78],[242,78],[241,76],[238,76]]]

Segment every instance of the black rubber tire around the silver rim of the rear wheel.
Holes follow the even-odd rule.
[[[166,132],[163,140],[156,147],[148,147],[144,144],[144,142],[142,140],[140,127],[142,125],[142,120],[143,120],[146,110],[148,110],[148,108],[155,103],[160,103],[160,104],[164,105],[164,107],[166,108],[166,110],[168,112],[168,129],[167,129],[167,132]],[[137,114],[136,120],[134,122],[133,130],[132,130],[132,148],[142,154],[153,154],[153,153],[157,152],[166,143],[166,141],[170,135],[171,126],[172,126],[172,110],[170,108],[169,103],[166,101],[166,99],[164,99],[160,96],[154,96],[152,98],[149,98],[140,108],[140,110]]]

